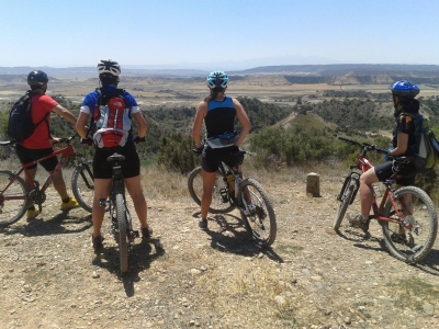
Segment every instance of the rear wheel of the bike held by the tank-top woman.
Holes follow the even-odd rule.
[[[256,209],[246,215],[243,209],[240,209],[240,216],[246,225],[248,232],[251,235],[252,240],[261,246],[271,246],[278,234],[278,226],[275,222],[275,214],[273,206],[262,186],[254,179],[246,179],[239,184],[239,195],[243,197],[245,195],[245,190],[247,189],[251,203],[256,206]],[[243,203],[243,201],[240,201]],[[248,201],[247,201],[248,203]],[[268,219],[267,220],[267,215]],[[269,224],[268,230],[267,226]]]

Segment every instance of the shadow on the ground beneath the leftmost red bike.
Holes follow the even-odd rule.
[[[23,220],[23,219],[21,219]],[[71,214],[70,212],[60,212],[57,215],[45,217],[44,212],[34,219],[27,220],[26,225],[12,225],[2,228],[0,231],[4,235],[21,234],[26,237],[52,236],[63,234],[77,234],[92,227],[91,214],[86,216]]]

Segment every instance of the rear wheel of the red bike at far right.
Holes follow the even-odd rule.
[[[418,263],[430,252],[436,241],[438,231],[438,219],[435,205],[426,192],[416,186],[403,186],[394,192],[394,198],[399,212],[405,208],[403,197],[412,198],[413,209],[410,216],[405,216],[405,220],[413,226],[405,234],[405,241],[396,242],[392,240],[392,234],[398,232],[397,223],[380,222],[382,225],[385,245],[390,253],[396,259],[406,263]],[[384,217],[397,218],[389,201],[384,207]]]

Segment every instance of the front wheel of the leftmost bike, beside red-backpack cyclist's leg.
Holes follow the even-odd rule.
[[[93,163],[80,163],[71,174],[71,190],[79,205],[91,213],[94,197]]]

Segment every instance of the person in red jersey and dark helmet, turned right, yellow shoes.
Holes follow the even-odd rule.
[[[35,127],[34,133],[27,139],[19,143],[15,147],[16,155],[22,164],[35,161],[54,152],[52,147],[53,143],[59,141],[59,138],[53,137],[49,131],[50,113],[56,113],[72,125],[76,124],[76,117],[70,111],[59,105],[54,99],[46,94],[48,77],[41,70],[34,70],[27,75],[27,84],[31,87],[31,115],[34,123],[41,122]],[[52,157],[45,161],[40,162],[43,168],[52,173],[58,164],[58,159]],[[30,179],[35,180],[37,164],[27,168],[30,177],[25,177],[27,185],[31,185]],[[63,179],[63,171],[58,170],[54,178],[53,183],[55,190],[61,197],[60,209],[67,211],[79,207],[78,202],[74,196],[69,196],[66,189],[66,183]],[[35,218],[40,214],[40,209],[34,205],[30,206],[26,212],[27,219]]]

